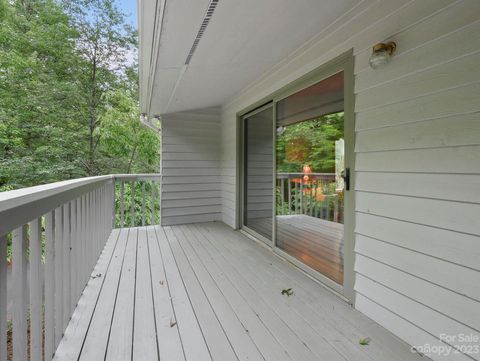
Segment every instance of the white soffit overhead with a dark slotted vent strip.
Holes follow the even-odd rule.
[[[148,1],[155,2],[140,0],[139,6]],[[142,112],[154,116],[224,104],[360,0],[218,0],[186,65],[212,2],[217,0],[165,1],[150,104],[142,88]],[[142,25],[141,49],[153,37]],[[145,53],[140,52],[141,64],[149,60]],[[141,85],[152,81],[151,73],[141,76]]]

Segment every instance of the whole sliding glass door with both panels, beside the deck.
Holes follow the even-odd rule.
[[[270,100],[241,118],[242,228],[351,300],[351,54]]]

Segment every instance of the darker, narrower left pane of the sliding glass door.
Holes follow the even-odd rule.
[[[272,240],[273,108],[243,118],[243,226]]]

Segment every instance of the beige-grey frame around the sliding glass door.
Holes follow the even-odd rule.
[[[344,207],[347,212],[344,214],[344,281],[343,285],[336,283],[330,278],[326,277],[322,273],[315,271],[314,269],[306,266],[304,263],[289,255],[287,252],[281,250],[276,246],[276,108],[277,103],[287,98],[288,96],[295,94],[309,86],[312,86],[322,80],[329,78],[332,75],[342,72],[344,73],[344,139],[345,139],[345,167],[350,168],[350,190],[345,192]],[[354,119],[354,72],[353,72],[353,51],[347,51],[339,57],[329,61],[328,63],[318,67],[317,69],[303,75],[295,81],[287,84],[281,89],[275,91],[267,97],[262,98],[258,102],[252,104],[241,112],[237,113],[237,121],[240,124],[240,157],[238,159],[239,170],[239,183],[237,191],[240,194],[239,202],[239,226],[243,226],[243,214],[244,214],[244,199],[243,199],[243,187],[244,187],[244,165],[243,165],[243,152],[244,152],[244,128],[243,119],[246,116],[251,116],[257,109],[264,110],[264,105],[268,104],[273,106],[273,121],[272,121],[272,139],[273,139],[273,174],[272,174],[272,197],[273,197],[273,211],[272,211],[272,242],[268,243],[275,253],[282,256],[286,260],[290,261],[298,268],[302,269],[305,273],[312,276],[316,280],[328,286],[337,294],[345,298],[348,302],[354,304],[354,227],[355,227],[355,119]],[[239,184],[237,183],[237,184]],[[254,235],[257,238],[258,233],[251,232],[246,229],[248,233]],[[262,239],[265,241],[265,239]]]

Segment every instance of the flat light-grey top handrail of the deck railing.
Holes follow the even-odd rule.
[[[110,174],[0,192],[0,236],[116,179],[159,177],[159,174]]]

